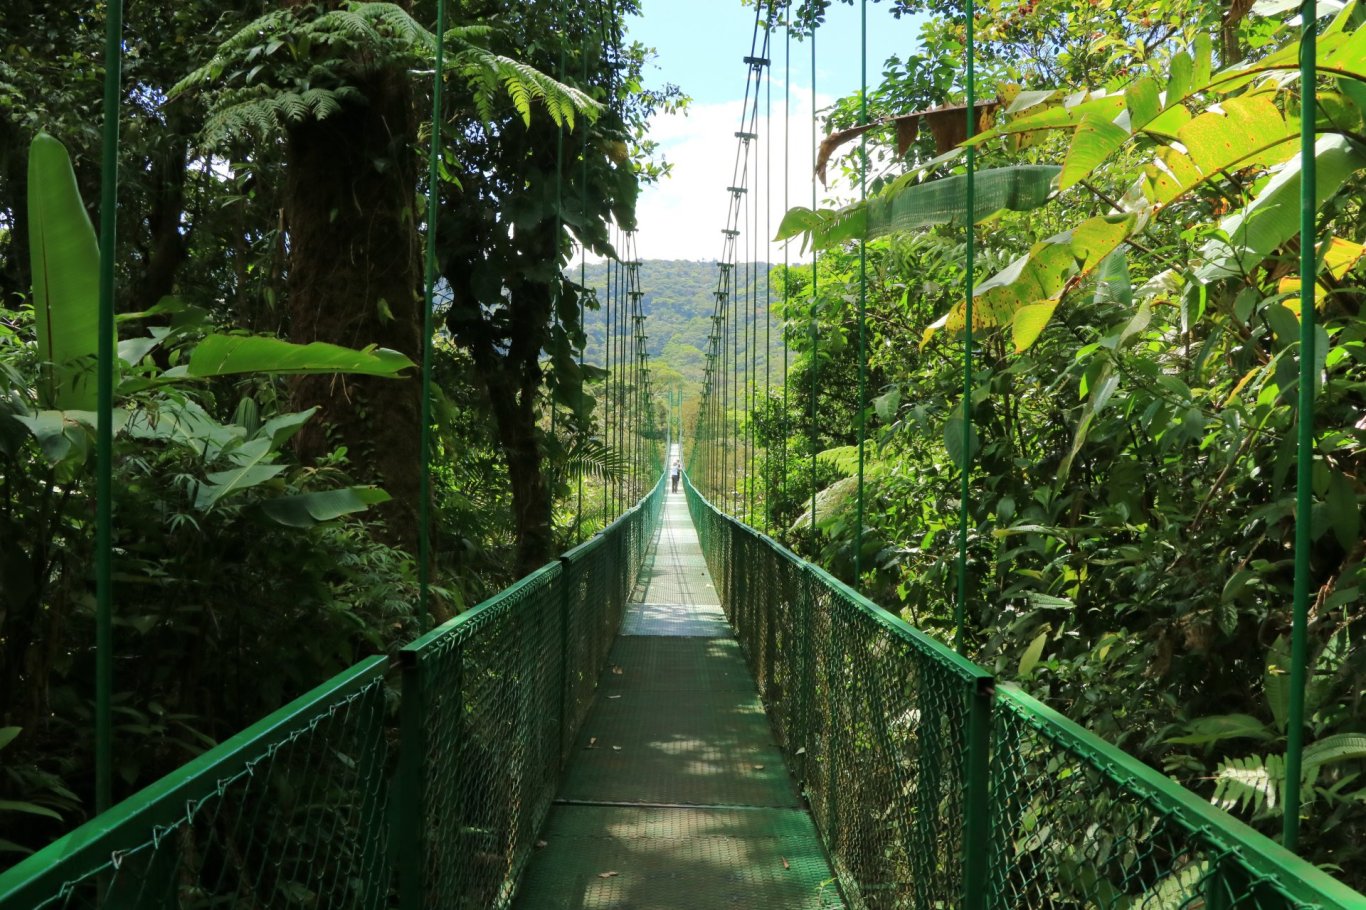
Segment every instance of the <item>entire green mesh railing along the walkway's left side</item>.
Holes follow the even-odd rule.
[[[15,865],[0,910],[505,906],[663,492],[404,648],[398,693],[370,657]]]

